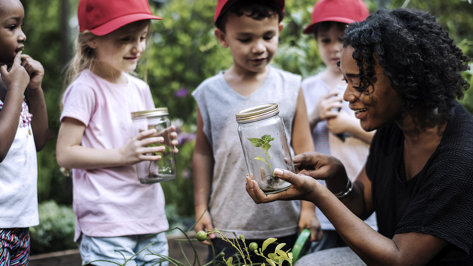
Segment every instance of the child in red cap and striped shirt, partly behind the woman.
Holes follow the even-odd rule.
[[[368,156],[374,132],[365,132],[352,114],[348,102],[342,100],[347,84],[336,63],[340,61],[342,37],[348,23],[365,20],[368,8],[362,0],[320,0],[315,3],[312,23],[303,33],[314,34],[326,68],[302,81],[310,129],[315,151],[341,160],[348,177],[354,179]],[[312,243],[310,251],[346,246],[333,225],[316,208],[323,236]],[[366,221],[377,230],[376,216]]]

